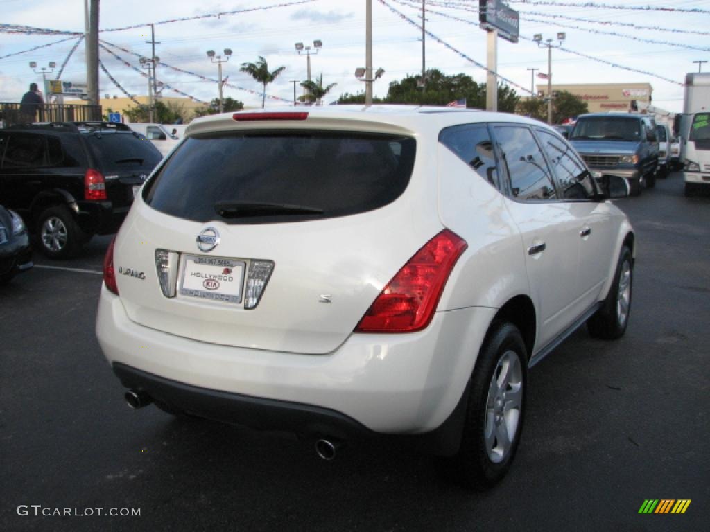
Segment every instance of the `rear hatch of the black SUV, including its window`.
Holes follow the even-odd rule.
[[[129,207],[143,182],[162,155],[143,136],[132,131],[92,131],[84,140],[96,170],[106,179],[106,191],[114,207]]]

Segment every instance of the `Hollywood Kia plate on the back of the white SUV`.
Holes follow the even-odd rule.
[[[241,302],[245,263],[222,257],[186,255],[180,294],[228,303]]]

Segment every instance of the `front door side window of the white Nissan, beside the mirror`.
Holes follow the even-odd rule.
[[[559,193],[564,199],[591,199],[594,197],[594,184],[591,174],[579,161],[569,144],[547,131],[537,131],[542,149],[550,161],[552,172],[557,179]]]

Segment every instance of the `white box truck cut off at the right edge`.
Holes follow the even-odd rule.
[[[710,72],[686,74],[680,124],[685,195],[710,189]]]

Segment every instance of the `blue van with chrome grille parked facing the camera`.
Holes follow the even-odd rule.
[[[628,181],[631,193],[653,188],[658,166],[658,139],[650,116],[594,113],[579,116],[569,136],[584,162],[601,175]]]

